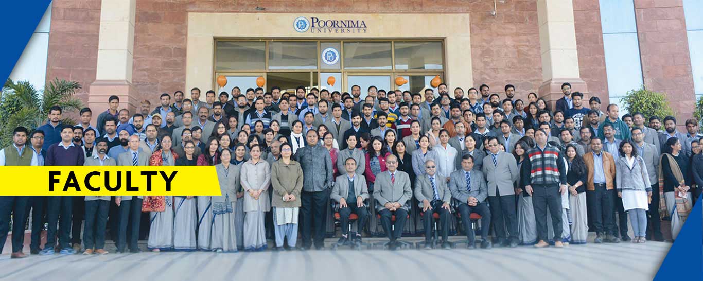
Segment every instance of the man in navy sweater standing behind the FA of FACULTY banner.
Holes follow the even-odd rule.
[[[49,150],[46,151],[44,166],[83,166],[84,162],[82,148],[73,143],[73,129],[71,126],[64,126],[61,129],[61,141],[49,146]],[[46,230],[46,244],[39,254],[45,256],[54,253],[57,223],[60,223],[58,228],[60,253],[75,254],[75,249],[70,246],[73,197],[49,196],[49,207],[46,209],[46,214],[49,228]]]

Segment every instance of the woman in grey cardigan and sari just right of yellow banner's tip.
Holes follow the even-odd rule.
[[[236,192],[239,190],[240,166],[230,164],[232,152],[222,150],[220,164],[215,165],[219,196],[212,196],[212,233],[211,249],[217,252],[237,251],[237,231],[235,229],[234,210],[237,203]]]

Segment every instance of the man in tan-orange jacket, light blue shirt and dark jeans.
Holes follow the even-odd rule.
[[[594,243],[602,242],[619,243],[616,237],[613,208],[615,196],[615,160],[610,153],[603,151],[603,144],[598,136],[591,136],[591,153],[583,155],[583,162],[588,168],[586,177],[586,196],[591,197],[588,202],[592,204],[588,210],[588,217],[593,219],[595,228]],[[602,237],[605,233],[605,239]]]

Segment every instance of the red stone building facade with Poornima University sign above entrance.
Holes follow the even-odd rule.
[[[689,118],[703,94],[703,53],[690,48],[701,13],[695,0],[53,0],[46,80],[79,81],[94,111],[114,94],[131,112],[160,93],[257,77],[266,89],[365,93],[439,76],[450,91],[513,84],[548,100],[568,81],[604,104],[644,84]]]

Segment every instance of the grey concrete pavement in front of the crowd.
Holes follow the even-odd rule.
[[[652,280],[671,243],[399,251],[0,256],[0,280]],[[352,268],[349,271],[348,268]],[[356,275],[361,276],[356,276]],[[361,279],[360,279],[361,278]]]

